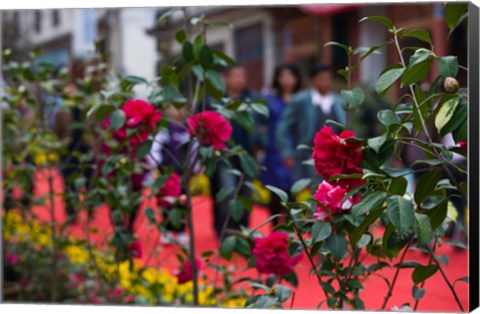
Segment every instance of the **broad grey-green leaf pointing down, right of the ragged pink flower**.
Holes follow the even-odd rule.
[[[405,233],[413,227],[415,211],[413,204],[405,198],[394,195],[387,199],[388,218],[400,233]]]

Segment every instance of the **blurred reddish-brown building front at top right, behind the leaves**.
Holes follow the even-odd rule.
[[[159,10],[158,15],[168,9]],[[271,84],[274,67],[281,62],[297,63],[304,73],[315,63],[326,63],[341,69],[347,65],[344,52],[337,47],[324,47],[329,41],[353,47],[371,47],[388,40],[386,30],[376,23],[359,23],[365,16],[381,15],[395,25],[408,29],[427,30],[437,55],[456,54],[460,64],[467,64],[466,25],[447,40],[442,3],[418,4],[315,4],[298,6],[189,7],[189,16],[204,14],[212,22],[227,22],[232,28],[219,26],[207,31],[208,43],[244,65],[250,87],[261,90]],[[183,13],[175,11],[148,33],[157,38],[159,63],[179,55],[181,47],[174,35],[184,24]],[[466,23],[465,23],[466,24]],[[404,46],[424,43],[405,40]],[[463,47],[463,48],[462,48]],[[356,83],[374,82],[388,64],[399,61],[393,47],[381,49],[363,62],[354,76]],[[405,52],[408,58],[409,51]],[[433,71],[431,79],[438,72]],[[460,73],[465,75],[466,73]],[[395,93],[395,91],[393,91]]]

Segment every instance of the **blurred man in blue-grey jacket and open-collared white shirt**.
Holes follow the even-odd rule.
[[[312,178],[318,181],[314,168],[304,164],[311,150],[297,150],[298,145],[313,146],[315,134],[326,120],[345,124],[346,114],[340,96],[332,91],[333,69],[317,65],[310,71],[312,87],[292,97],[277,126],[277,145],[285,166],[293,171],[294,179]],[[333,127],[335,130],[336,128]],[[338,133],[339,130],[336,130]]]

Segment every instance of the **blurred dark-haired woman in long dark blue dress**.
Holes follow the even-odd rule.
[[[276,67],[273,75],[273,90],[262,95],[262,98],[268,101],[269,115],[268,118],[262,117],[259,122],[266,134],[263,143],[265,156],[262,162],[266,170],[262,172],[260,179],[264,185],[276,186],[287,193],[293,185],[293,174],[292,169],[286,167],[281,158],[276,131],[282,113],[288,107],[293,94],[300,91],[301,86],[301,75],[297,66],[281,64]],[[272,215],[282,212],[280,198],[276,194],[271,193],[269,208]],[[279,218],[273,220],[274,225],[278,222]]]

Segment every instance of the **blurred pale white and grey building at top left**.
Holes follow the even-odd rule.
[[[110,52],[115,70],[152,80],[155,40],[145,30],[154,23],[154,8],[10,10],[2,12],[3,49],[25,58],[40,48],[36,61],[57,66],[93,57],[95,42]]]

